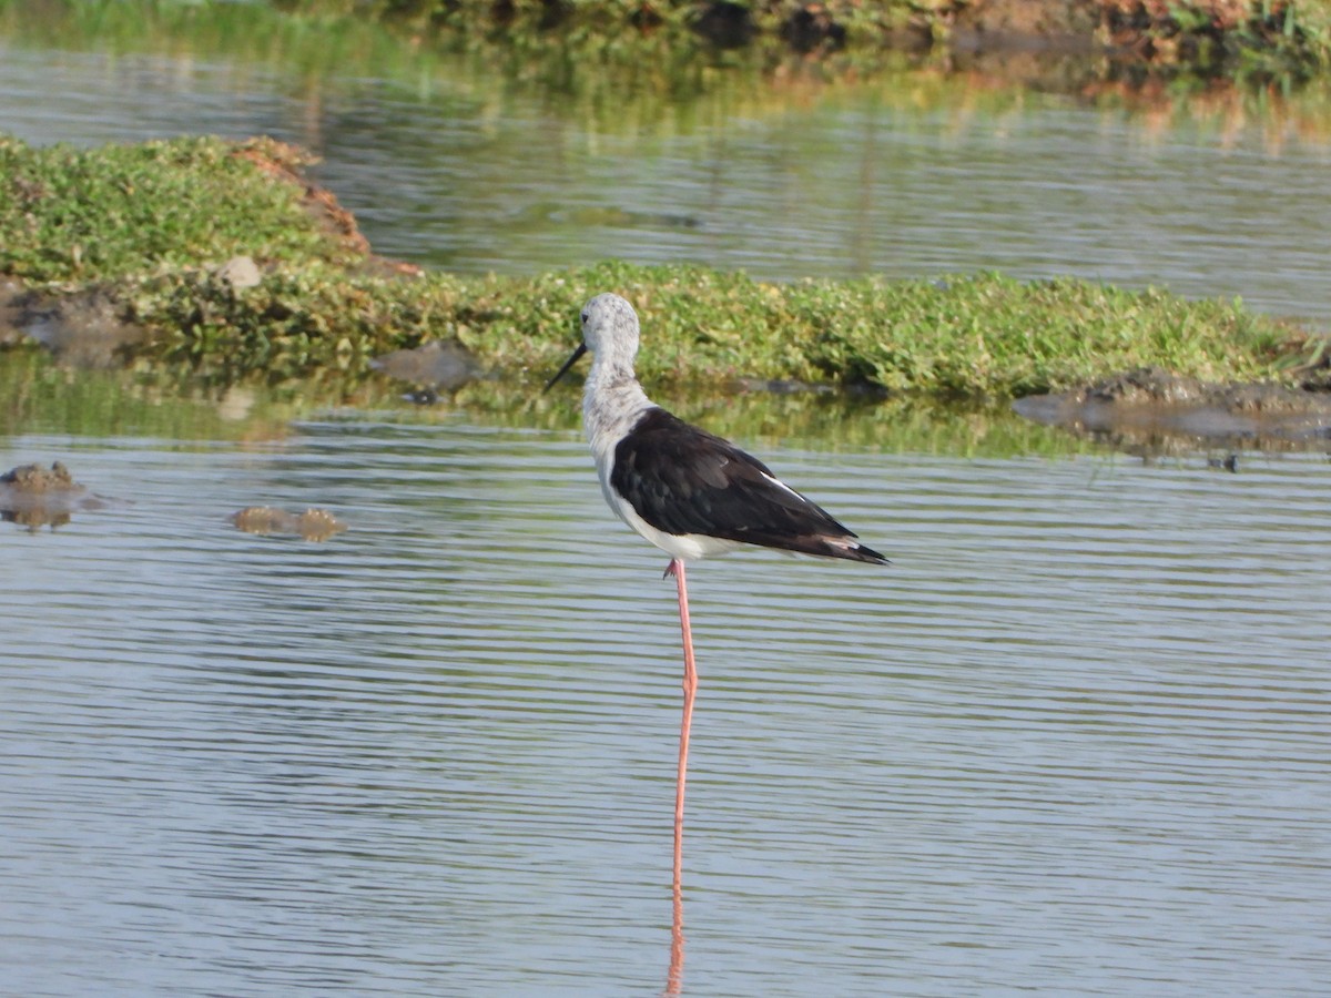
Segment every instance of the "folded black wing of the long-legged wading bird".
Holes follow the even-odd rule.
[[[729,440],[650,409],[615,448],[610,483],[647,523],[809,555],[882,562],[831,514],[777,484],[763,462]]]

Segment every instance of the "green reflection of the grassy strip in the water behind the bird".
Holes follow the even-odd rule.
[[[208,448],[210,440],[246,444],[282,440],[301,432],[298,420],[390,420],[410,424],[467,422],[483,426],[580,432],[580,399],[574,391],[542,395],[515,391],[488,379],[458,389],[447,405],[415,405],[402,386],[382,378],[349,382],[289,382],[206,390],[188,375],[162,367],[146,373],[79,371],[36,350],[0,353],[0,431],[79,436],[157,436],[180,448]],[[1059,458],[1094,446],[1061,430],[1025,419],[1008,405],[920,405],[917,399],[800,390],[771,391],[712,385],[662,386],[680,415],[751,446],[809,446],[817,450],[916,451],[968,456],[1042,455]],[[347,405],[349,403],[349,405]]]

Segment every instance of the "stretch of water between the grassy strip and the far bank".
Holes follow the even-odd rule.
[[[0,39],[0,128],[40,144],[294,141],[325,158],[318,177],[379,253],[425,265],[614,257],[783,281],[996,269],[1331,319],[1316,88],[1123,101],[929,71],[858,86],[712,71],[672,101],[588,67],[590,94],[463,56],[337,75],[234,39],[83,44]]]

